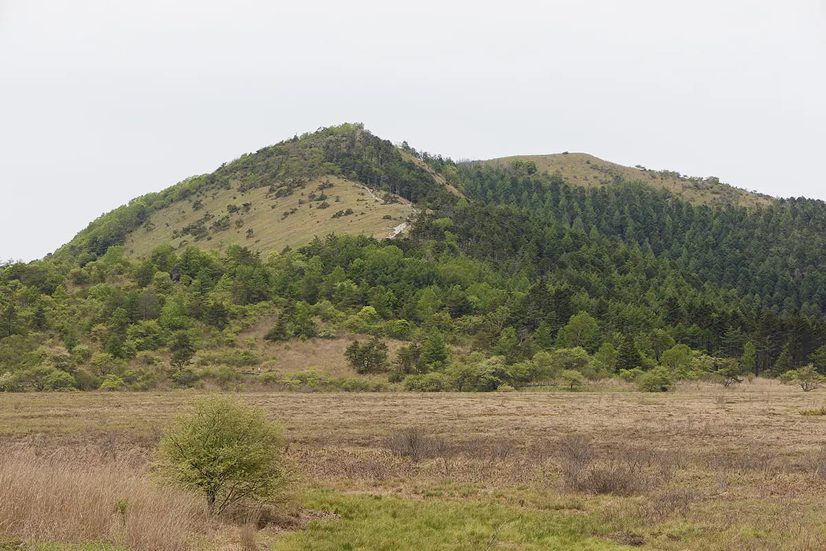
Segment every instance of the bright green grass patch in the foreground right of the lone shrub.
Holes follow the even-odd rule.
[[[305,506],[330,511],[283,534],[273,550],[629,549],[595,537],[604,520],[586,512],[536,511],[490,501],[309,492]]]

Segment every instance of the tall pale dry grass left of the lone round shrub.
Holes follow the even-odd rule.
[[[0,534],[177,551],[206,521],[200,500],[152,484],[140,459],[45,451],[0,456]]]

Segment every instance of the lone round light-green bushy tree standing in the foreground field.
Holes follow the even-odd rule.
[[[155,449],[165,480],[202,492],[219,514],[239,501],[282,498],[282,432],[263,410],[231,397],[203,397],[178,416]]]

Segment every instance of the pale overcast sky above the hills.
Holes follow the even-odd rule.
[[[826,199],[824,0],[0,0],[0,260],[295,133]]]

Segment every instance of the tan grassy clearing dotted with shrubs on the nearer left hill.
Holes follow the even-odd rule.
[[[363,184],[332,176],[312,178],[290,195],[269,188],[239,192],[222,188],[199,192],[154,211],[126,237],[127,254],[145,259],[159,245],[181,249],[225,249],[243,245],[267,254],[286,246],[309,243],[314,235],[332,232],[364,234],[377,239],[393,235],[413,214],[411,202],[379,197]],[[344,214],[351,211],[350,214]]]

